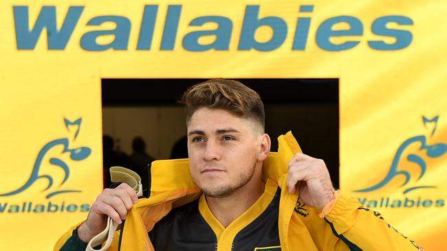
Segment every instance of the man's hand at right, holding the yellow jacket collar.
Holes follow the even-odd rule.
[[[290,193],[298,187],[301,200],[320,211],[334,200],[335,190],[325,161],[305,154],[297,153],[290,160],[287,187]]]

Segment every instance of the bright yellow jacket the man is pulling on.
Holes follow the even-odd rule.
[[[377,213],[359,209],[360,202],[344,195],[340,196],[325,218],[327,222],[318,217],[320,212],[315,208],[307,207],[306,217],[294,213],[299,191],[289,193],[287,190],[287,164],[301,150],[290,132],[279,136],[278,141],[278,153],[271,153],[263,163],[263,176],[281,187],[279,239],[282,251],[350,250],[349,243],[354,243],[362,250],[417,250],[415,244],[391,229],[383,219],[376,216]],[[151,167],[151,181],[151,197],[140,199],[127,215],[122,251],[153,250],[147,232],[155,222],[171,208],[195,200],[201,194],[190,178],[187,159],[155,161]],[[331,224],[336,232],[332,230]],[[54,250],[63,246],[73,229],[58,240]],[[343,241],[343,238],[349,243]],[[117,247],[118,232],[108,250],[116,251]],[[219,247],[219,251],[224,250],[230,251],[231,245]]]

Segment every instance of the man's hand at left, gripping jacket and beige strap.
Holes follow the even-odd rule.
[[[78,237],[88,243],[107,226],[107,217],[121,224],[127,212],[138,202],[138,196],[129,184],[122,183],[114,189],[104,189],[91,205],[87,220],[78,228]]]

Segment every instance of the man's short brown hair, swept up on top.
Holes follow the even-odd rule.
[[[195,84],[186,90],[180,101],[186,106],[189,123],[199,108],[226,110],[233,115],[252,119],[265,128],[264,105],[259,94],[236,80],[212,79]]]

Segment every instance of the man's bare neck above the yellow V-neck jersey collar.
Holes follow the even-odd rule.
[[[251,182],[253,184],[250,184]],[[216,219],[226,228],[261,197],[264,189],[265,183],[261,177],[253,177],[245,186],[224,198],[206,196],[206,204]]]

